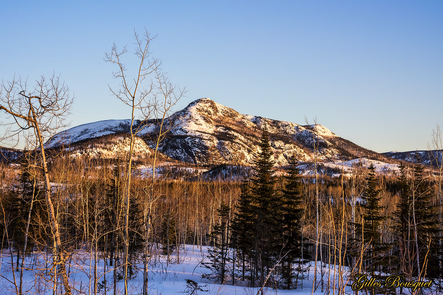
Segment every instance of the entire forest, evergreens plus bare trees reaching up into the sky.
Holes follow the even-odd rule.
[[[416,156],[389,174],[372,163],[359,165],[352,153],[337,154],[342,163],[356,161],[332,177],[319,169],[323,142],[313,137],[313,172],[301,175],[296,157],[276,171],[264,126],[252,168],[230,170],[250,173],[213,179],[198,169],[179,177],[167,169],[157,173],[170,112],[185,91],[160,71],[158,60],[147,59],[149,34],[135,39],[135,84],[127,84],[121,63],[126,47],[119,51],[114,44],[105,55],[121,80],[119,89],[110,90],[132,114],[128,145],[115,158],[73,157],[69,144],[47,148],[66,127],[72,104],[59,77],[42,77],[31,88],[20,78],[2,83],[0,111],[14,126],[11,136],[24,134],[27,142],[19,159],[11,163],[14,153],[4,149],[0,162],[2,286],[28,293],[26,272],[35,294],[154,294],[154,268],[183,264],[186,252],[203,253],[205,247],[207,255],[198,262],[207,269],[202,280],[255,287],[257,294],[300,289],[303,282],[305,288],[311,284],[311,294],[350,294],[358,274],[377,281],[392,274],[407,282],[433,281],[419,289],[367,284],[363,290],[371,295],[441,293],[441,163],[425,166]],[[150,86],[141,88],[149,74]],[[153,146],[145,153],[151,172],[136,168],[140,156],[134,149],[144,126],[136,113],[145,123],[155,118]],[[73,279],[74,268],[87,275],[87,291],[86,283]],[[140,285],[134,286],[136,277]],[[188,287],[181,293],[204,291],[193,280]]]

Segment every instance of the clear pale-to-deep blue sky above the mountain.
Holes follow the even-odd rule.
[[[152,56],[188,90],[178,109],[208,97],[302,125],[316,116],[377,152],[427,149],[443,124],[442,16],[441,0],[3,1],[0,78],[61,74],[71,126],[127,119],[103,58],[146,27]]]

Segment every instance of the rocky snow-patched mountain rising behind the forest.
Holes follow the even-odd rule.
[[[172,114],[166,122],[170,130],[159,151],[172,159],[196,165],[253,165],[260,151],[261,129],[264,126],[269,131],[276,166],[287,165],[291,156],[302,162],[312,161],[314,146],[317,150],[316,157],[320,161],[334,161],[338,158],[349,160],[356,157],[385,162],[390,159],[340,138],[325,126],[298,125],[242,115],[208,98],[191,102],[183,110]],[[130,120],[83,124],[56,134],[47,142],[47,146],[73,146],[75,142],[109,134],[121,136],[130,131],[129,124]],[[159,128],[157,120],[143,123],[136,121],[134,127],[147,146],[150,149],[155,148],[155,131]]]

